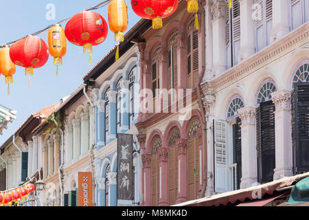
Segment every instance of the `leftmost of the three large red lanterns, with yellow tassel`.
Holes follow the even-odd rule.
[[[14,43],[10,48],[10,58],[13,63],[25,67],[25,76],[33,75],[33,69],[45,65],[48,60],[48,47],[42,39],[37,36],[27,36]]]

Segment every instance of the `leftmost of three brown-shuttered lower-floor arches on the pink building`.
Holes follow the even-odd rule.
[[[158,150],[162,146],[162,140],[159,135],[156,135],[152,141],[152,155],[151,155],[151,204],[158,206],[159,203],[159,155]]]

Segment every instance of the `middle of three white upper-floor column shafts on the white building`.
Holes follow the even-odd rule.
[[[255,54],[253,37],[252,5],[253,0],[240,0],[240,55],[244,61]]]

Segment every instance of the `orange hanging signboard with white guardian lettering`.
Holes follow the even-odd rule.
[[[78,206],[92,206],[92,173],[78,172]]]

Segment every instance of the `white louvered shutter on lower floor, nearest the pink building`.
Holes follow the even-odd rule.
[[[214,187],[215,192],[227,192],[227,122],[214,121]]]

